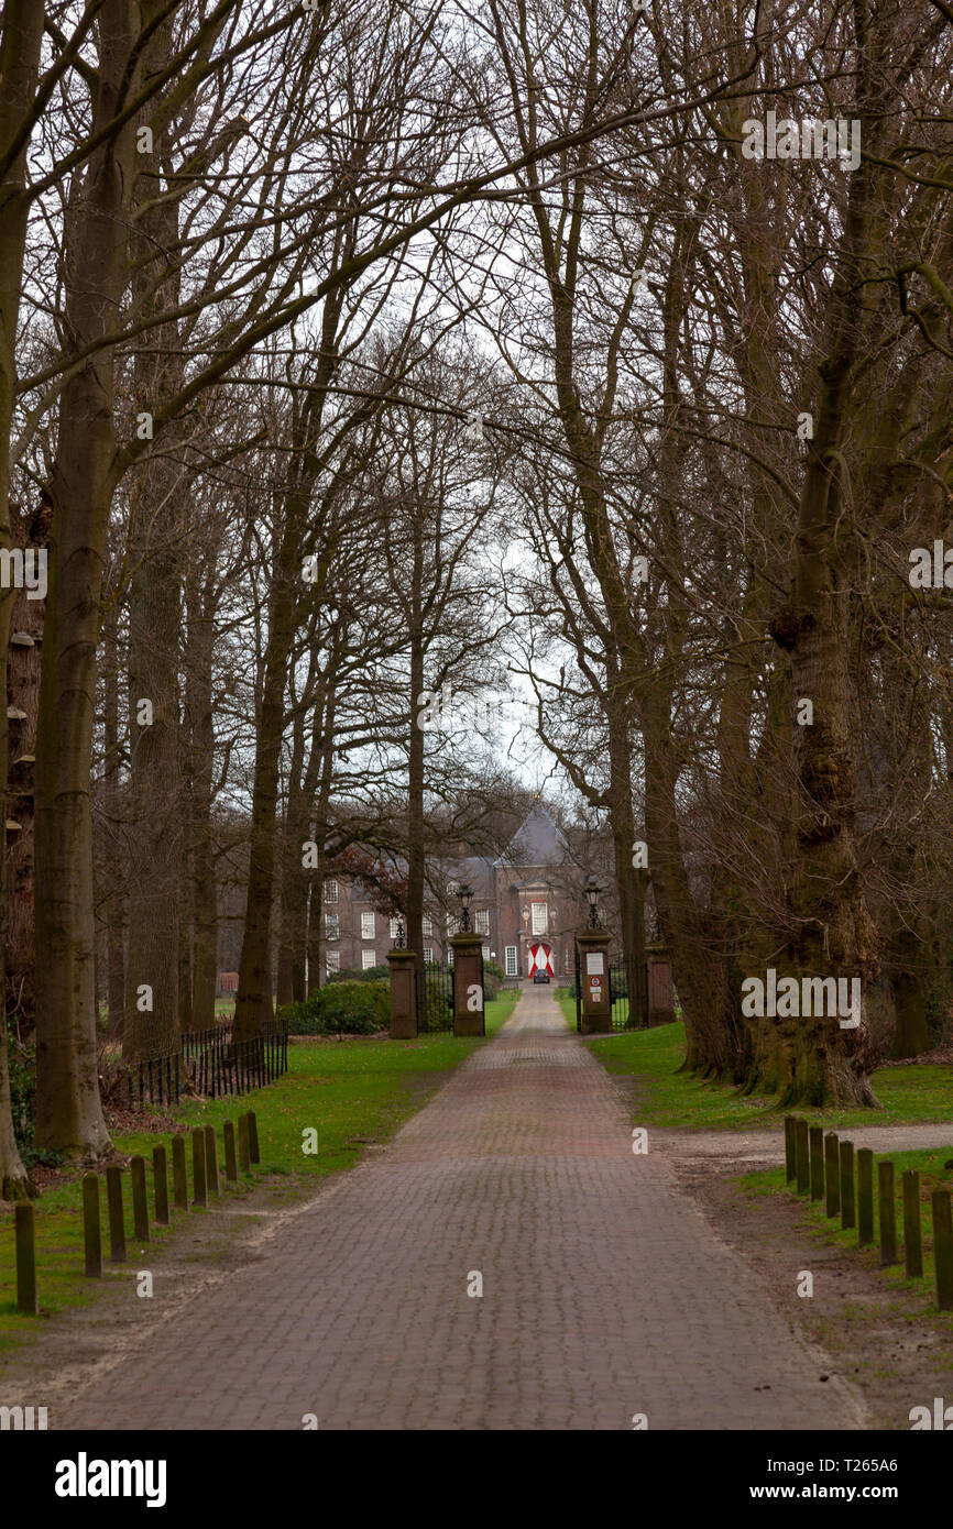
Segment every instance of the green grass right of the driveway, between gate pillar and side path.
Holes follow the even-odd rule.
[[[572,998],[560,998],[560,1006],[575,1026]],[[678,1072],[685,1057],[685,1026],[681,1023],[589,1037],[586,1046],[592,1047],[609,1072],[638,1079],[639,1121],[646,1125],[698,1130],[780,1127],[782,1113],[774,1095],[743,1096],[730,1084]],[[873,1073],[873,1090],[883,1110],[818,1110],[799,1105],[797,1113],[811,1125],[828,1130],[953,1122],[953,1067],[881,1067]]]

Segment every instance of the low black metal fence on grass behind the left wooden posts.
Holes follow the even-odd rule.
[[[451,1020],[453,1024],[453,1020]],[[288,1026],[268,1023],[259,1035],[236,1041],[231,1024],[184,1031],[181,1052],[147,1057],[128,1072],[128,1105],[177,1104],[185,1079],[196,1093],[220,1099],[262,1089],[288,1072]]]

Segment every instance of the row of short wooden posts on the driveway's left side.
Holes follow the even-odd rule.
[[[249,1173],[252,1162],[260,1162],[259,1122],[254,1110],[239,1116],[239,1128],[225,1121],[225,1177],[237,1180],[239,1171]],[[188,1171],[185,1162],[185,1136],[173,1136],[171,1144],[171,1191],[177,1211],[188,1211]],[[130,1157],[133,1200],[133,1238],[148,1242],[148,1197],[145,1191],[145,1157]],[[191,1133],[191,1206],[207,1206],[210,1194],[220,1194],[219,1144],[214,1125],[197,1127]],[[168,1154],[165,1147],[153,1147],[153,1197],[154,1217],[159,1226],[171,1222],[168,1208]],[[102,1277],[102,1226],[99,1220],[99,1174],[83,1176],[83,1240],[86,1246],[84,1274],[90,1280]],[[109,1261],[125,1263],[125,1216],[122,1206],[122,1168],[106,1170],[106,1211],[109,1223]],[[34,1206],[26,1202],[15,1206],[17,1238],[17,1309],[35,1316],[40,1310],[37,1290],[37,1222]]]

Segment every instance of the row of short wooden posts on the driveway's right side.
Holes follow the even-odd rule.
[[[854,1159],[857,1156],[857,1174]],[[825,1136],[820,1125],[785,1116],[785,1176],[799,1194],[823,1200],[828,1216],[840,1216],[841,1228],[857,1226],[860,1248],[873,1243],[873,1203],[880,1222],[880,1261],[899,1263],[896,1243],[896,1190],[893,1164],[878,1162],[873,1194],[873,1153],[854,1142],[841,1142],[834,1131]],[[904,1269],[907,1278],[924,1272],[924,1243],[919,1205],[919,1173],[901,1176],[904,1214]],[[936,1306],[953,1312],[953,1206],[948,1190],[933,1190],[933,1260],[936,1266]]]

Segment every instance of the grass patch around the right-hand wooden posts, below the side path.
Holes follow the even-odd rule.
[[[901,1069],[896,1069],[901,1070]],[[799,1116],[803,1119],[803,1116]],[[950,1142],[953,1145],[953,1127],[950,1128]],[[864,1258],[867,1266],[878,1269],[884,1283],[892,1289],[912,1290],[921,1295],[929,1306],[935,1304],[936,1298],[936,1266],[933,1263],[933,1208],[930,1196],[933,1190],[953,1190],[953,1168],[944,1168],[944,1164],[950,1161],[951,1148],[938,1147],[929,1148],[925,1151],[886,1151],[873,1154],[873,1243],[861,1248],[858,1243],[857,1226],[841,1228],[840,1217],[831,1217],[825,1214],[823,1200],[809,1200],[806,1196],[794,1193],[791,1185],[785,1183],[785,1170],[772,1168],[768,1173],[748,1173],[736,1182],[746,1194],[766,1196],[766,1194],[783,1194],[789,1200],[797,1200],[808,1226],[826,1243],[835,1243],[838,1248],[852,1249],[858,1258]],[[855,1153],[855,1177],[857,1177],[857,1153]],[[895,1217],[896,1217],[896,1245],[899,1254],[899,1263],[881,1264],[880,1261],[880,1208],[877,1200],[877,1164],[892,1162],[893,1164],[893,1182],[895,1182]],[[924,1272],[922,1278],[907,1278],[904,1271],[904,1208],[901,1196],[901,1174],[909,1168],[915,1168],[919,1173],[919,1202],[921,1202],[921,1226],[922,1226],[922,1251],[924,1251]],[[857,1190],[855,1190],[855,1211],[857,1211]],[[948,1320],[950,1332],[953,1333],[953,1313],[936,1312],[938,1316]]]

